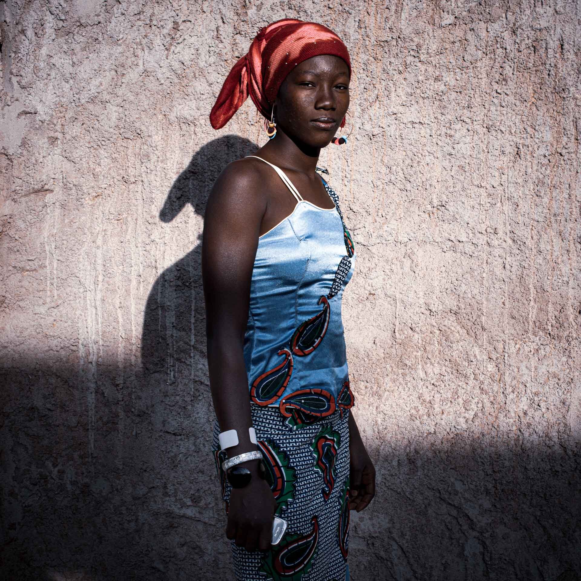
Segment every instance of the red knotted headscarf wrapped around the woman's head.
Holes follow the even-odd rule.
[[[285,18],[262,28],[228,74],[210,112],[210,123],[220,129],[248,95],[260,113],[270,119],[272,103],[282,81],[303,60],[317,55],[342,58],[349,67],[349,52],[342,40],[322,24]],[[345,126],[345,119],[341,127]]]

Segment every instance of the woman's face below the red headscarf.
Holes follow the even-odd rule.
[[[304,60],[285,78],[275,101],[277,127],[293,140],[322,148],[349,108],[349,67],[338,56]]]

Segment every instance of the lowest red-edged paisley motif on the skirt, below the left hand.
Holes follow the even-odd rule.
[[[301,581],[313,566],[319,537],[318,518],[311,518],[312,529],[306,535],[286,534],[278,546],[263,559],[260,572],[275,581]]]

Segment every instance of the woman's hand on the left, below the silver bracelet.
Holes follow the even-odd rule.
[[[230,492],[226,536],[247,551],[268,551],[277,502],[258,470],[250,468],[250,471],[250,483],[243,488],[232,488]]]

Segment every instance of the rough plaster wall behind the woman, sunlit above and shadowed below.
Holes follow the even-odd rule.
[[[353,57],[322,152],[374,503],[354,581],[581,579],[579,0],[3,0],[2,579],[232,579],[200,234],[261,26]]]

